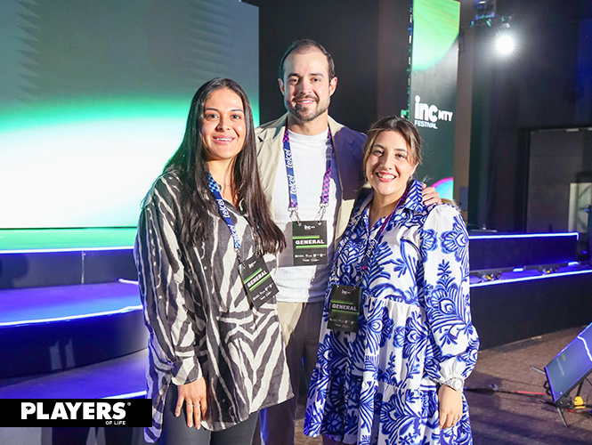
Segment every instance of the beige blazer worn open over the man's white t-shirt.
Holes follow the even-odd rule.
[[[284,132],[288,114],[277,120],[255,128],[257,142],[257,165],[268,202],[272,201],[273,184],[278,171],[278,163],[282,159]],[[338,203],[335,242],[343,235],[352,214],[353,204],[363,185],[363,169],[361,166],[361,149],[366,135],[350,130],[328,117],[328,127],[333,137],[333,149],[341,187],[341,202]],[[273,212],[273,209],[272,209]]]

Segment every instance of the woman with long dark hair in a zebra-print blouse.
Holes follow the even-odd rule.
[[[259,181],[247,94],[213,79],[193,97],[138,223],[147,441],[250,445],[258,410],[292,396],[275,298],[254,305],[239,275],[243,260],[285,246]]]

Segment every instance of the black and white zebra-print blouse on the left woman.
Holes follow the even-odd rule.
[[[178,238],[182,217],[179,176],[160,176],[142,205],[135,240],[144,320],[150,331],[148,395],[158,441],[171,383],[204,376],[207,418],[220,431],[249,414],[292,396],[275,300],[255,310],[243,289],[231,232],[219,214],[209,214],[211,233],[197,247]],[[240,257],[254,254],[247,219],[226,203],[241,240]]]

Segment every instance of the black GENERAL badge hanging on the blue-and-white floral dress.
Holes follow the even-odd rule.
[[[333,285],[328,302],[327,328],[357,332],[360,304],[361,287]]]

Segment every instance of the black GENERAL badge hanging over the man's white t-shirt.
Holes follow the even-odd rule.
[[[327,264],[327,222],[292,222],[292,247],[295,266]]]

